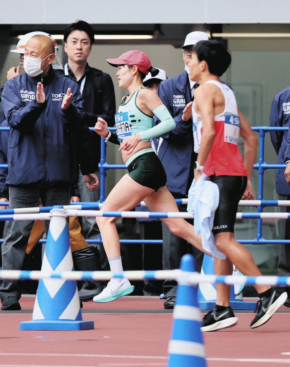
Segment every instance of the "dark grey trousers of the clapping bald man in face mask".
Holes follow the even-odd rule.
[[[9,186],[9,208],[38,207],[39,199],[43,206],[69,205],[70,187],[68,184],[49,187],[33,185]],[[21,270],[30,231],[34,221],[7,221],[4,242],[2,245],[2,270]],[[49,221],[45,221],[48,232]],[[3,280],[0,298],[8,296],[21,297],[17,280]]]

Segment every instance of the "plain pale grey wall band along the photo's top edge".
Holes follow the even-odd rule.
[[[1,0],[0,24],[288,23],[288,0]]]

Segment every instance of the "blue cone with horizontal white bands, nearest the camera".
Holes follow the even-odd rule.
[[[192,255],[187,254],[182,257],[180,268],[185,272],[195,272]],[[197,287],[178,282],[172,335],[168,345],[168,367],[206,366],[200,326]]]

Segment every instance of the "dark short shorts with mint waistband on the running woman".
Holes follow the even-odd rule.
[[[166,185],[166,173],[160,159],[154,152],[144,153],[127,167],[129,176],[140,185],[155,191]]]

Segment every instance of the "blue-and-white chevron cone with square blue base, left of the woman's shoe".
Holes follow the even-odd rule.
[[[65,210],[51,210],[50,226],[43,256],[42,272],[72,271]],[[31,321],[20,323],[20,330],[86,330],[94,321],[83,321],[75,280],[41,279],[37,288]]]

